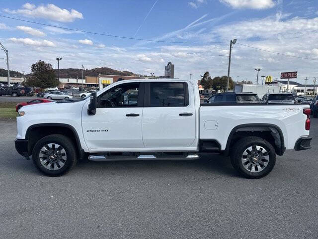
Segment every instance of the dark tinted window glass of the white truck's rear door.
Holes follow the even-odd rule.
[[[150,107],[184,107],[185,87],[178,82],[150,83]]]

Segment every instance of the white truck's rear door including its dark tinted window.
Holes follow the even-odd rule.
[[[185,148],[194,142],[196,118],[191,84],[146,82],[144,106],[146,148]]]

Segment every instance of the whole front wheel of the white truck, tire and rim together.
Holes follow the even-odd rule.
[[[74,167],[77,154],[70,138],[62,134],[51,134],[35,144],[32,159],[35,166],[45,175],[60,176]]]

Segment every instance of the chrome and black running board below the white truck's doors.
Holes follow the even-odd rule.
[[[198,159],[198,154],[188,155],[153,155],[141,154],[139,156],[106,156],[106,155],[89,155],[91,161],[127,161],[127,160],[193,160]]]

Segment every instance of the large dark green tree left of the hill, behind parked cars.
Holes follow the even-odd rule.
[[[32,64],[31,75],[26,78],[26,85],[40,88],[56,87],[59,85],[59,80],[52,65],[39,60]]]

